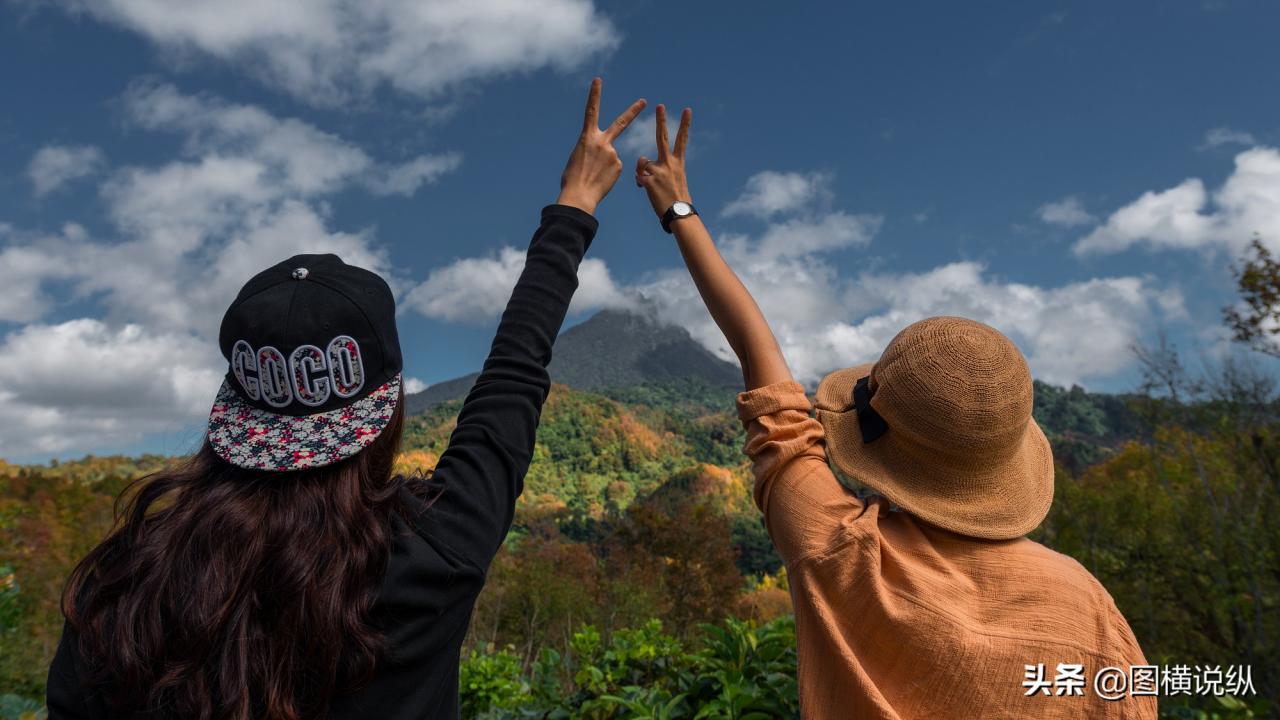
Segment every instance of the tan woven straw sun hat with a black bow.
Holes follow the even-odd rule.
[[[841,473],[931,524],[1007,539],[1039,525],[1053,501],[1053,456],[1032,395],[1007,337],[929,318],[878,361],[823,378],[815,406]]]

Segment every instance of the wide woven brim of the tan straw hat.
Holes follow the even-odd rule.
[[[827,457],[837,470],[922,520],[969,537],[1011,539],[1044,520],[1053,503],[1053,454],[1036,420],[1028,420],[1016,450],[1006,459],[979,466],[927,461],[892,427],[867,443],[851,398],[854,386],[872,366],[836,370],[818,386],[817,415],[827,438]],[[948,477],[963,482],[938,482]]]

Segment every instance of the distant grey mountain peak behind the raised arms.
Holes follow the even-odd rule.
[[[577,389],[623,388],[692,379],[712,388],[740,389],[737,365],[712,355],[684,328],[625,310],[602,310],[556,341],[552,380]],[[410,415],[463,397],[477,373],[435,383],[406,396]]]

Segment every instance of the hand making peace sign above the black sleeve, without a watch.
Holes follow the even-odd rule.
[[[572,205],[588,213],[595,213],[595,206],[613,188],[622,174],[622,160],[618,159],[613,141],[627,129],[631,120],[644,109],[644,99],[636,100],[622,111],[609,127],[603,131],[600,123],[600,78],[591,81],[591,91],[586,96],[586,118],[582,120],[582,135],[568,156],[564,173],[561,174],[561,205]]]

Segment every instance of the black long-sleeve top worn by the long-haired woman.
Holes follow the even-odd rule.
[[[419,510],[394,520],[387,577],[372,609],[388,657],[369,685],[334,700],[329,719],[458,717],[462,639],[489,562],[511,529],[550,388],[552,343],[595,231],[595,218],[582,210],[543,209],[489,357],[436,464],[439,493],[422,506],[403,491]],[[68,628],[49,671],[50,720],[113,717],[100,697],[83,689],[87,676]]]

